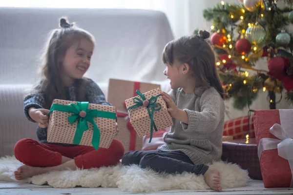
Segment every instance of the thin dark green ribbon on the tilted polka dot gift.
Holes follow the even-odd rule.
[[[129,108],[127,108],[128,110],[131,110],[133,108],[138,108],[140,106],[144,106],[144,100],[146,100],[146,97],[144,94],[142,94],[139,90],[136,90],[137,95],[139,95],[139,97],[141,97],[143,100],[141,100],[140,98],[133,98],[133,102],[135,103],[135,105],[130,106]],[[158,131],[156,124],[154,122],[154,112],[155,111],[159,111],[161,110],[162,106],[160,103],[156,103],[157,102],[157,98],[159,98],[160,96],[162,96],[161,94],[157,95],[157,96],[153,96],[151,98],[148,99],[148,106],[146,106],[147,109],[147,113],[148,116],[150,118],[150,136],[149,136],[149,142],[151,142],[152,139],[152,134],[153,134],[153,129],[155,129],[155,131]],[[151,108],[151,109],[150,109]]]

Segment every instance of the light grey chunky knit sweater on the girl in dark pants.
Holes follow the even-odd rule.
[[[180,150],[194,164],[207,164],[220,160],[225,105],[215,88],[197,88],[194,94],[182,89],[172,90],[169,95],[176,106],[188,114],[188,124],[173,118],[173,126],[164,135],[165,144],[160,150]]]

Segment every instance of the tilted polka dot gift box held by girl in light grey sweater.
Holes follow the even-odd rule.
[[[173,125],[161,92],[160,88],[144,94],[136,90],[138,96],[125,100],[132,126],[139,137],[150,134],[149,142],[151,142],[153,131]]]

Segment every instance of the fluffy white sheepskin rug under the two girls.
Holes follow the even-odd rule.
[[[177,175],[158,174],[134,165],[130,167],[117,165],[89,170],[54,171],[17,181],[14,178],[14,171],[21,165],[23,164],[14,156],[0,158],[0,181],[25,182],[36,185],[48,184],[54,188],[74,188],[76,186],[90,188],[100,186],[105,188],[118,187],[122,191],[130,193],[147,193],[172,189],[209,189],[203,176],[189,173]],[[235,164],[214,162],[209,168],[220,172],[223,189],[243,187],[250,180],[247,171],[242,170]]]

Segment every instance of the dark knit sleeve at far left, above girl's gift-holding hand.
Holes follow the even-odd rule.
[[[25,96],[25,98],[23,100],[23,104],[24,104],[25,116],[28,118],[28,120],[30,120],[32,122],[36,122],[35,120],[33,120],[29,116],[28,110],[32,107],[34,107],[36,109],[41,109],[41,108],[43,109],[45,107],[44,94],[39,93],[39,92],[32,92],[32,93]]]

